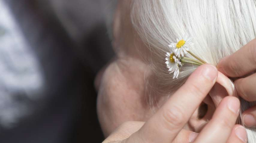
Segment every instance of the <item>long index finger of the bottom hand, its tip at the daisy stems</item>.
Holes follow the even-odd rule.
[[[209,93],[217,75],[216,67],[210,64],[199,66],[159,111],[133,134],[132,141],[172,142]]]

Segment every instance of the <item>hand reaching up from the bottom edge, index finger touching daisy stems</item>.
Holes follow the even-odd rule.
[[[147,122],[127,122],[103,143],[245,143],[245,128],[235,125],[240,108],[236,97],[225,97],[200,133],[182,129],[215,84],[217,73],[209,64],[198,67]]]

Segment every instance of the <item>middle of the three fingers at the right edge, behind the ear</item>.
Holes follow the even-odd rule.
[[[256,73],[235,81],[237,93],[246,101],[256,101]]]

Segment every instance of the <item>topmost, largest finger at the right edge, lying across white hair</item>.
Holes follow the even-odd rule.
[[[241,77],[254,71],[256,69],[256,39],[234,54],[220,60],[217,67],[228,77]]]

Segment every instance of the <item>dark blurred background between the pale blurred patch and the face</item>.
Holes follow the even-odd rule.
[[[0,142],[102,142],[93,83],[97,71],[114,55],[107,26],[111,25],[115,1],[0,1],[10,12],[6,18],[14,19],[43,79],[38,90],[8,91],[11,101],[15,97],[15,103],[24,105],[28,114],[13,117],[7,127],[3,123]],[[20,112],[18,106],[11,107]]]

